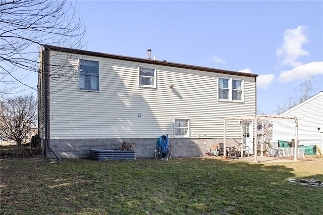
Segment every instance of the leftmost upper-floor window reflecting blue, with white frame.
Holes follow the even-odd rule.
[[[99,90],[99,62],[80,60],[79,89],[92,91]]]

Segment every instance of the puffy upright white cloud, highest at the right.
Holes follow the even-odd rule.
[[[302,45],[307,43],[307,37],[304,35],[306,26],[298,26],[296,29],[287,29],[284,31],[284,42],[282,47],[277,50],[277,56],[282,59],[283,65],[296,67],[301,62],[297,60],[301,56],[308,56],[309,53],[302,49]]]

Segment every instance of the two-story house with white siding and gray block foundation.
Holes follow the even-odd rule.
[[[137,157],[148,158],[168,135],[172,157],[203,156],[223,142],[223,117],[256,114],[256,77],[43,45],[38,117],[45,153],[88,157],[91,149],[133,142]],[[239,121],[227,123],[227,145],[243,135]]]

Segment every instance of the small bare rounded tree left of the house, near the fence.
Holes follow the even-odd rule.
[[[0,137],[18,145],[35,128],[37,101],[30,95],[20,95],[0,101]]]

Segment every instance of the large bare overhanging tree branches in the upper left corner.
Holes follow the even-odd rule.
[[[81,48],[84,23],[67,0],[0,0],[0,94],[38,73],[39,45]],[[23,69],[23,75],[17,70]]]

